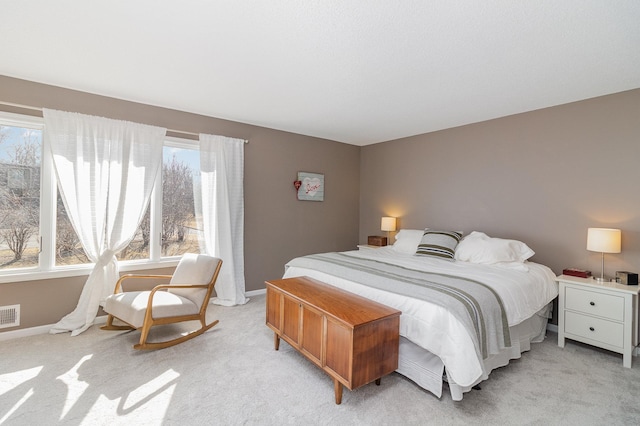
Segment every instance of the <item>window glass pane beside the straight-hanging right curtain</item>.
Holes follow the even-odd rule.
[[[165,147],[162,166],[162,256],[199,253],[193,189],[200,179],[200,151]]]

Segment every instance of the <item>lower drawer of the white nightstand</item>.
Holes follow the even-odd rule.
[[[619,348],[624,346],[624,324],[621,323],[567,311],[564,318],[564,331],[607,345]]]

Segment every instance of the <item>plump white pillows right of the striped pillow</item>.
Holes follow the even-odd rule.
[[[524,262],[535,252],[517,240],[491,238],[482,232],[473,231],[456,247],[455,259],[471,263],[497,264],[501,262]]]

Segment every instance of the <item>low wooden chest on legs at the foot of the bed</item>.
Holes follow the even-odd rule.
[[[333,378],[336,404],[398,368],[400,311],[309,277],[266,281],[267,320],[280,338]]]

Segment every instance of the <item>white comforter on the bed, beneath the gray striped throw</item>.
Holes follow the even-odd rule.
[[[535,315],[558,295],[555,275],[546,266],[526,262],[526,268],[479,265],[417,257],[383,247],[349,254],[381,259],[412,268],[472,278],[490,285],[504,303],[509,326]],[[527,269],[524,271],[522,269]],[[284,278],[310,276],[402,311],[400,335],[442,359],[447,375],[461,386],[473,385],[483,374],[473,339],[452,314],[427,301],[367,287],[327,272],[288,266]]]

